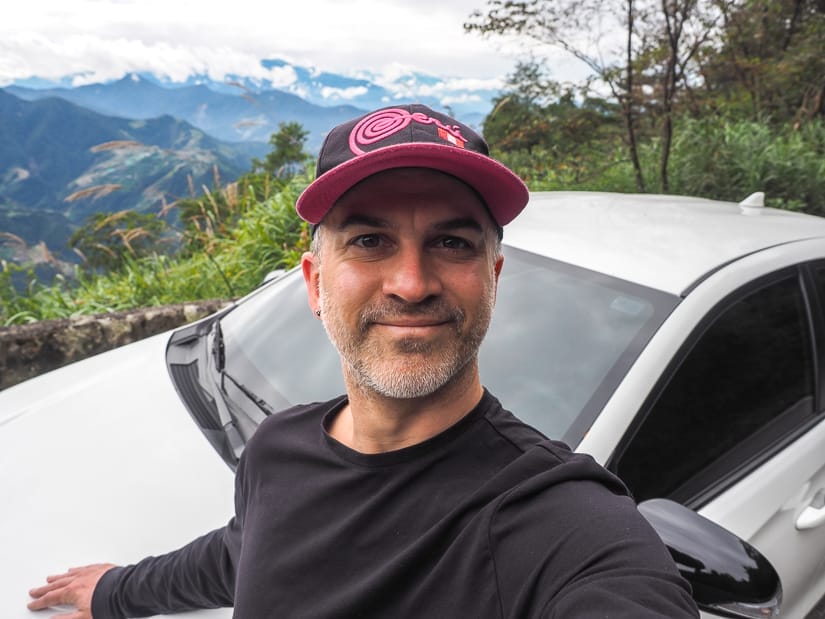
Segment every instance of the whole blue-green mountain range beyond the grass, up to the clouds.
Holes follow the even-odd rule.
[[[211,187],[215,170],[234,180],[269,151],[281,122],[303,125],[317,153],[330,127],[393,101],[479,127],[497,94],[418,73],[379,80],[261,64],[269,77],[129,74],[80,86],[33,78],[0,89],[0,258],[72,259],[66,241],[91,213],[159,212],[192,187]]]

